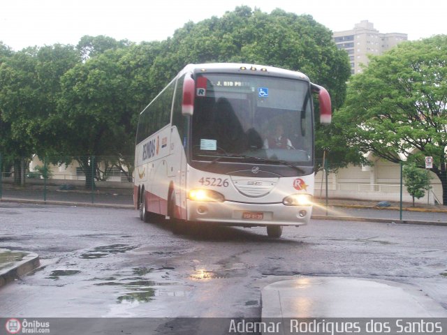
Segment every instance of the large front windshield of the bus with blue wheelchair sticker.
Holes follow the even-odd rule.
[[[312,166],[312,141],[309,82],[226,73],[196,78],[193,160]]]

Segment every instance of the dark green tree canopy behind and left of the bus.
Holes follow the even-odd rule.
[[[124,158],[133,155],[142,108],[186,64],[209,62],[300,70],[330,91],[336,108],[350,75],[346,52],[312,16],[247,6],[188,22],[161,42],[84,36],[76,47],[20,52],[0,44],[0,151],[76,158],[86,175],[94,156],[115,156],[133,170]],[[325,132],[317,130],[317,156],[331,136]]]

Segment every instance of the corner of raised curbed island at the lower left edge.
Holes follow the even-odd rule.
[[[0,287],[41,265],[39,256],[28,251],[0,248],[0,256],[3,258],[3,262],[0,262]]]

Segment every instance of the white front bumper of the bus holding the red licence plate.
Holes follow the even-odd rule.
[[[188,200],[188,220],[223,225],[307,225],[312,206],[248,204],[240,202],[196,202]]]

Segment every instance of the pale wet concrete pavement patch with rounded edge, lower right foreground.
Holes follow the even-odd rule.
[[[315,319],[320,325],[333,322],[340,327],[344,322],[356,322],[361,334],[382,334],[367,331],[368,320],[395,330],[399,329],[397,320],[402,318],[421,325],[427,322],[423,318],[447,318],[446,309],[411,285],[363,278],[303,276],[279,281],[263,288],[261,301],[263,322],[279,325],[275,334],[297,334],[300,322],[309,327]]]

